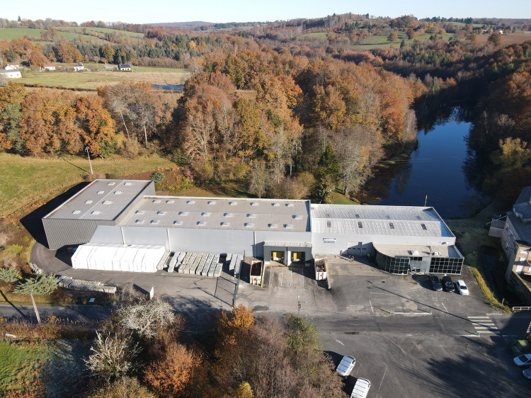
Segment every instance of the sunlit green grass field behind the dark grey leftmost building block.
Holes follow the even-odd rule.
[[[171,161],[156,155],[135,159],[92,160],[94,173],[118,176],[174,166]],[[54,198],[84,181],[89,171],[89,161],[79,157],[39,159],[0,154],[0,217],[7,217],[22,209],[33,210],[35,204]]]

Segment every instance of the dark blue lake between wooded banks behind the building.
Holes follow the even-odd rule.
[[[465,137],[471,123],[441,120],[418,132],[418,147],[409,159],[379,169],[365,184],[362,200],[370,204],[435,207],[443,218],[469,217],[484,197],[469,186],[463,171]],[[426,199],[427,196],[427,199]]]

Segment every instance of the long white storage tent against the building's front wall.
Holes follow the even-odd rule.
[[[164,253],[164,246],[82,244],[72,256],[72,268],[156,272]]]

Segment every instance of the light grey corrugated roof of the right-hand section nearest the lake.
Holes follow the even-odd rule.
[[[312,232],[453,237],[433,207],[312,205]]]

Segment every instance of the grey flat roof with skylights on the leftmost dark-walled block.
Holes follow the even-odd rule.
[[[114,220],[152,181],[94,180],[43,218]]]

